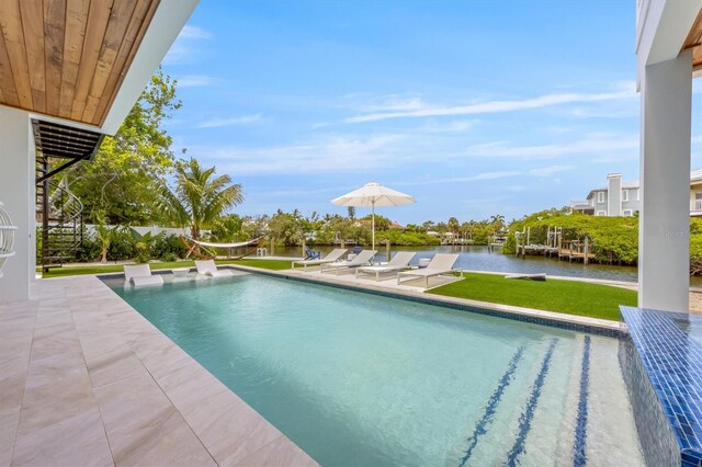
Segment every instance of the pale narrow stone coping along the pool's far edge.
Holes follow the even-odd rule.
[[[452,309],[474,312],[485,316],[512,319],[517,321],[533,322],[553,328],[568,329],[579,332],[607,335],[611,338],[622,338],[629,334],[626,323],[623,321],[611,321],[608,319],[589,318],[578,315],[567,315],[556,311],[546,311],[535,308],[517,307],[512,305],[494,304],[489,301],[472,300],[468,298],[450,297],[444,295],[428,295],[421,291],[407,291],[384,287],[380,283],[347,282],[335,278],[335,276],[306,276],[305,272],[295,270],[264,270],[261,267],[245,266],[237,264],[223,264],[220,269],[231,269],[253,274],[268,275],[272,277],[307,282],[317,285],[326,285],[348,291],[363,292],[367,294],[382,295],[390,298],[399,298],[427,305],[442,306]],[[191,267],[191,272],[196,271]],[[302,270],[301,270],[302,271]],[[467,272],[467,271],[466,271]],[[170,274],[171,270],[156,270],[154,274]],[[497,273],[496,273],[497,274]],[[101,278],[124,277],[123,273],[95,274]]]

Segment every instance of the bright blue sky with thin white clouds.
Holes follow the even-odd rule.
[[[562,207],[638,178],[634,11],[202,0],[163,61],[183,101],[168,129],[244,185],[242,215],[346,214],[329,201],[367,181],[416,196],[378,210],[403,224]]]

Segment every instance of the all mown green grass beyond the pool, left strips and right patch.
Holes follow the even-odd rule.
[[[291,266],[291,262],[286,260],[217,260],[216,263],[219,265],[244,265],[273,271],[290,270]],[[194,262],[152,262],[149,263],[149,266],[154,271],[194,267]],[[65,266],[44,273],[44,277],[121,273],[122,271],[122,264]],[[464,276],[463,281],[433,288],[428,293],[612,321],[621,320],[620,305],[636,306],[636,292],[622,287],[580,281],[510,281],[501,275],[489,273],[465,273]]]

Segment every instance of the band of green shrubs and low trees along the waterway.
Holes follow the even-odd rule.
[[[349,216],[313,213],[305,217],[299,212],[278,210],[272,216],[238,216],[226,214],[210,223],[202,231],[204,239],[214,242],[242,241],[265,237],[262,246],[268,253],[275,254],[281,247],[310,248],[338,246],[343,240],[347,247],[354,244],[369,247],[371,229],[369,216],[355,219]],[[169,226],[168,223],[165,223]],[[182,224],[181,224],[182,225]],[[172,225],[171,225],[172,226]],[[405,227],[376,215],[376,246],[382,251],[389,241],[393,250],[401,247],[433,247],[439,244],[489,244],[495,237],[503,238],[500,252],[514,254],[516,232],[529,231],[530,244],[556,244],[553,232],[561,239],[580,241],[588,239],[598,264],[636,266],[638,261],[638,217],[599,217],[569,213],[566,208],[548,209],[514,219],[506,225],[501,216],[482,221],[460,224],[456,218],[448,221],[426,221]],[[552,235],[551,239],[548,235]],[[106,240],[105,241],[105,237]],[[37,239],[41,236],[37,235]],[[455,239],[455,241],[454,241]],[[348,241],[351,241],[350,243]],[[41,252],[41,243],[37,244]],[[204,249],[212,257],[224,251]],[[79,262],[92,262],[100,258],[106,261],[149,260],[176,261],[184,258],[185,246],[177,236],[139,235],[128,226],[98,225],[93,235],[86,235],[83,248],[79,251]],[[38,261],[38,257],[37,257]],[[555,261],[555,260],[554,260]],[[690,219],[690,274],[702,275],[702,219]]]

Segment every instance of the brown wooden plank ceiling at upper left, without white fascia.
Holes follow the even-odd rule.
[[[102,125],[159,0],[0,0],[0,104]]]

